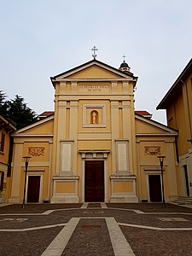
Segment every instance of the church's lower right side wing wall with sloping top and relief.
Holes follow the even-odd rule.
[[[137,193],[139,199],[151,201],[150,177],[155,176],[162,185],[160,156],[165,156],[163,178],[165,199],[172,201],[177,197],[177,159],[175,137],[177,132],[165,125],[136,116],[137,132]],[[152,179],[153,180],[153,179]],[[151,186],[152,187],[152,186]]]

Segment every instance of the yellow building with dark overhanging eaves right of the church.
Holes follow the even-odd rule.
[[[179,195],[192,196],[192,59],[157,109],[166,109],[168,126],[178,131]]]

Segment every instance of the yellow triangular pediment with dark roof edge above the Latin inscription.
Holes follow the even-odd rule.
[[[101,61],[89,61],[65,73],[51,78],[52,81],[61,79],[136,79],[132,73],[124,73],[110,67]]]

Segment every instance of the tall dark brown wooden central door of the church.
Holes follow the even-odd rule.
[[[104,161],[85,161],[84,201],[104,201]]]

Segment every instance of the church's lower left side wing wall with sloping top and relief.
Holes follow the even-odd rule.
[[[31,157],[27,169],[26,192],[38,182],[38,201],[49,199],[50,167],[53,153],[53,117],[20,129],[13,136],[15,145],[9,202],[20,203],[23,200],[26,174],[24,156]],[[33,180],[35,177],[38,181]],[[27,196],[26,193],[26,200]]]

